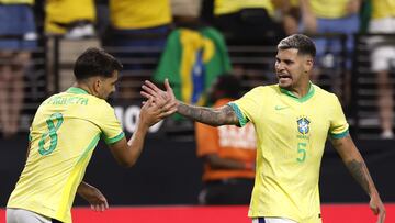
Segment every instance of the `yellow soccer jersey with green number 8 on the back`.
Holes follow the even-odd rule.
[[[7,207],[71,222],[77,188],[100,137],[108,144],[124,137],[105,100],[80,88],[45,100],[34,116],[30,154]]]

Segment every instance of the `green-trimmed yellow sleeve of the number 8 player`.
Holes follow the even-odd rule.
[[[122,131],[121,123],[115,116],[114,109],[108,103],[102,109],[102,115],[98,121],[98,125],[102,131],[102,137],[105,143],[114,144],[125,137],[125,133]]]

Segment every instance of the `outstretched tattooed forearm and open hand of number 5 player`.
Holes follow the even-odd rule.
[[[142,87],[144,91],[140,93],[146,98],[153,98],[154,101],[167,100],[171,101],[171,103],[177,103],[177,112],[183,116],[192,119],[193,121],[202,122],[213,126],[224,124],[239,124],[235,111],[229,105],[224,105],[216,109],[190,105],[176,99],[168,79],[165,80],[165,87],[166,91],[159,89],[153,82],[146,80],[145,85]]]

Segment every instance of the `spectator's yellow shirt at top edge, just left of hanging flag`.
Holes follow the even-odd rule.
[[[169,0],[110,0],[110,19],[115,29],[148,29],[171,22]]]

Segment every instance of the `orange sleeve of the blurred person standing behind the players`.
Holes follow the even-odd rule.
[[[195,124],[196,155],[203,157],[208,154],[216,154],[219,150],[218,133],[216,127],[206,124]]]

